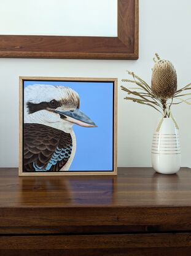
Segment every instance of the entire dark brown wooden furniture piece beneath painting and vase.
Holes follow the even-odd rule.
[[[191,255],[191,171],[18,177],[0,170],[0,255]]]

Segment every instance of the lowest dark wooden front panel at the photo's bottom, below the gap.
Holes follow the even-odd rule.
[[[81,236],[1,236],[0,254],[27,255],[189,255],[191,234],[107,234]],[[10,249],[11,245],[11,249]],[[150,252],[150,253],[149,253]],[[181,252],[181,254],[176,254]],[[175,253],[175,254],[173,254]],[[3,254],[4,255],[4,254]]]

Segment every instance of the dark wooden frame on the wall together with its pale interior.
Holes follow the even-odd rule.
[[[0,57],[139,57],[138,0],[1,0],[0,14]]]

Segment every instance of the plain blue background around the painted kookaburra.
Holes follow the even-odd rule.
[[[24,81],[28,85],[69,86],[80,97],[80,110],[98,125],[74,125],[76,155],[69,171],[111,171],[113,159],[113,83],[84,81]],[[25,97],[25,92],[24,92]]]

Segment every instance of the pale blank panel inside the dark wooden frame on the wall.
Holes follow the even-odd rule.
[[[0,35],[117,36],[117,0],[1,0]]]

